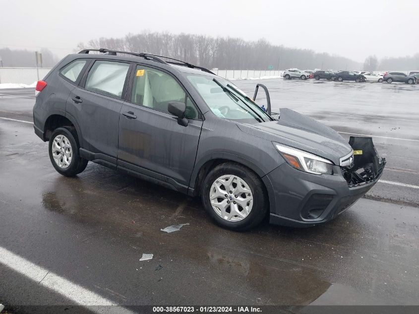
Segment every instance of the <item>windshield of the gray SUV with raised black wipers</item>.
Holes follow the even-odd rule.
[[[273,119],[239,87],[221,77],[187,75],[214,115],[243,123],[259,123]]]

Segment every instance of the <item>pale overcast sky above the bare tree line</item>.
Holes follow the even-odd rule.
[[[1,1],[0,48],[50,48],[63,57],[99,37],[144,29],[265,38],[363,62],[419,52],[418,0]]]

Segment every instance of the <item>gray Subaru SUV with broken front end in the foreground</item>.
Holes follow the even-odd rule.
[[[326,222],[381,176],[385,159],[371,138],[347,143],[289,109],[274,119],[270,103],[265,112],[228,80],[190,63],[91,51],[65,57],[36,87],[35,133],[49,141],[64,176],[92,161],[199,195],[208,214],[234,230],[267,216],[289,226]]]

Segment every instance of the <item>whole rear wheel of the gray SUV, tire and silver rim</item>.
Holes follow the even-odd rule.
[[[70,127],[59,127],[51,134],[50,160],[61,175],[72,177],[86,169],[88,161],[79,155],[75,132]]]

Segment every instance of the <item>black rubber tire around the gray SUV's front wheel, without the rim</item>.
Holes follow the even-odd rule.
[[[223,219],[215,212],[211,205],[211,186],[218,178],[224,175],[238,176],[248,185],[253,195],[253,205],[250,213],[246,218],[237,222],[231,222]],[[202,184],[201,199],[205,210],[218,225],[237,231],[248,230],[260,224],[267,214],[269,205],[266,189],[260,178],[247,167],[234,162],[227,162],[218,165],[208,173]]]

